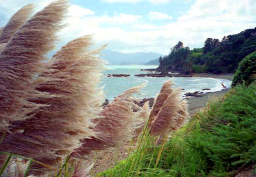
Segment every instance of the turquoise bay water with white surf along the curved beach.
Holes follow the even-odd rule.
[[[107,66],[107,70],[104,74],[130,74],[129,77],[106,77],[103,76],[101,85],[104,86],[105,98],[113,99],[113,97],[119,95],[123,91],[133,86],[139,85],[146,82],[147,85],[144,87],[139,95],[140,98],[155,97],[159,92],[164,81],[172,79],[176,83],[173,87],[182,87],[186,92],[203,91],[202,88],[210,88],[208,91],[219,91],[223,87],[223,83],[227,88],[230,88],[231,81],[220,78],[202,78],[202,77],[137,77],[134,74],[147,73],[139,69],[156,68],[157,66],[147,65],[111,65]]]

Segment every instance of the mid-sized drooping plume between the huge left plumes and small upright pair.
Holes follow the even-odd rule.
[[[99,117],[92,120],[95,123],[93,130],[96,136],[81,140],[82,146],[75,149],[72,156],[84,158],[91,150],[115,147],[129,141],[133,136],[134,128],[141,123],[132,116],[134,103],[129,100],[129,97],[138,93],[144,86],[145,84],[141,84],[132,87],[106,105]]]

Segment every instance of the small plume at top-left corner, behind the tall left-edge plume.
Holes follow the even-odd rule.
[[[30,17],[33,7],[33,4],[27,4],[12,15],[3,27],[2,32],[0,32],[0,43],[7,43],[9,41],[18,28]]]

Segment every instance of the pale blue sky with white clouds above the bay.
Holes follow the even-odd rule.
[[[19,8],[36,10],[53,0],[0,0],[0,26]],[[69,0],[58,47],[92,34],[94,47],[108,43],[119,52],[168,54],[182,41],[202,47],[207,37],[221,38],[256,26],[256,0]]]

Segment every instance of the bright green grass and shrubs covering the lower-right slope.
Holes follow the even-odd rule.
[[[256,83],[211,99],[163,146],[144,139],[107,176],[230,176],[256,163]],[[148,142],[151,141],[151,142]],[[129,174],[129,175],[128,175]]]

